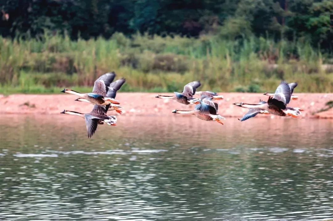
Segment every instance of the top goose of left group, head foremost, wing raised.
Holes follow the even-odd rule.
[[[79,98],[82,98],[82,101],[94,104],[94,105],[110,105],[110,104],[119,104],[119,101],[114,98],[107,97],[107,92],[109,90],[108,86],[115,78],[116,74],[114,72],[106,73],[100,76],[94,83],[94,88],[91,93],[82,94],[77,91],[65,88],[61,92],[74,94]]]

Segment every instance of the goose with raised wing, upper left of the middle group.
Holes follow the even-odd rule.
[[[193,98],[196,89],[200,87],[200,85],[201,84],[199,81],[193,81],[184,86],[182,93],[173,92],[174,93],[173,96],[158,95],[156,96],[156,98],[174,99],[181,104],[188,105],[190,104],[190,102],[188,101]]]

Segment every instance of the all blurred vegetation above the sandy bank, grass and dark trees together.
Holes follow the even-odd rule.
[[[332,92],[331,0],[0,0],[0,93]]]

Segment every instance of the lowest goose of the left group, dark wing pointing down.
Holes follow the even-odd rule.
[[[94,135],[98,124],[108,124],[108,125],[116,125],[117,118],[116,116],[108,116],[106,114],[107,110],[105,106],[94,105],[93,110],[90,113],[80,113],[76,111],[67,111],[64,110],[61,113],[77,115],[85,119],[87,126],[88,138]]]

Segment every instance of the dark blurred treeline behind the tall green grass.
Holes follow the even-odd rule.
[[[137,32],[159,36],[254,35],[301,40],[332,52],[332,0],[0,0],[3,37],[41,37],[45,30],[71,39]]]

